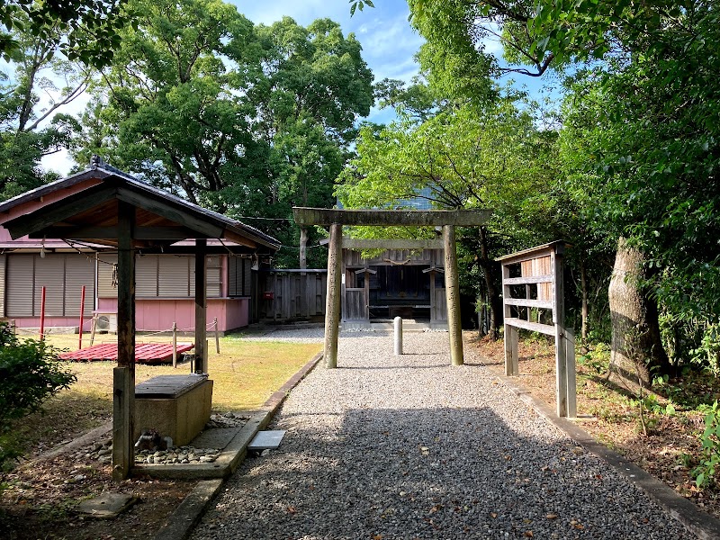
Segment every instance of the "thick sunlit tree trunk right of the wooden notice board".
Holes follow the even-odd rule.
[[[653,371],[667,373],[670,363],[660,339],[657,303],[638,283],[646,277],[643,263],[644,254],[620,238],[608,289],[613,330],[610,377],[649,387]]]

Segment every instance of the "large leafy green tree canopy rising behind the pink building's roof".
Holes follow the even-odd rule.
[[[95,87],[78,161],[110,156],[297,245],[291,207],[333,203],[372,103],[355,37],[327,19],[256,27],[221,0],[129,3],[141,16]],[[297,248],[281,253],[298,265]]]

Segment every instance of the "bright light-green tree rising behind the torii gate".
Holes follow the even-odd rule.
[[[394,123],[379,133],[368,127],[357,141],[358,157],[340,176],[338,197],[350,208],[426,198],[438,209],[491,209],[491,220],[464,231],[461,241],[479,266],[490,333],[497,338],[500,270],[494,259],[499,247],[532,245],[533,224],[553,212],[545,196],[553,139],[509,102],[450,106],[426,121]]]

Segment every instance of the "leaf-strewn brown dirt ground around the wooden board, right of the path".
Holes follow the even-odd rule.
[[[468,344],[495,373],[504,374],[503,342],[475,340]],[[518,347],[520,375],[516,383],[536,398],[555,406],[554,346],[540,338],[521,341]],[[682,455],[697,461],[701,444],[698,435],[705,428],[702,414],[683,410],[676,405],[674,415],[653,413],[645,410],[647,436],[639,419],[639,410],[633,406],[628,390],[608,383],[601,362],[578,362],[578,423],[599,442],[626,456],[648,473],[665,482],[698,508],[720,518],[720,474],[716,474],[716,487],[698,490],[689,477],[689,467]],[[694,387],[703,392],[707,401],[720,399],[720,384],[716,380],[707,384],[696,381],[671,380],[676,386]],[[707,383],[707,379],[706,379]],[[631,389],[637,392],[637,389]],[[658,396],[662,405],[667,400]],[[687,459],[687,458],[686,458]]]

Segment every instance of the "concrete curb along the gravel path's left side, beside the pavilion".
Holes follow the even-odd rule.
[[[196,465],[195,469],[198,470],[198,474],[185,477],[202,477],[203,471],[205,474],[216,473],[217,471],[222,472],[220,478],[198,482],[193,491],[184,498],[180,506],[177,507],[175,512],[167,519],[167,525],[157,532],[155,540],[185,540],[185,538],[190,537],[193,527],[200,522],[202,514],[205,512],[205,509],[207,509],[212,498],[217,495],[222,488],[225,479],[229,474],[235,473],[240,464],[245,460],[247,456],[247,445],[250,444],[250,441],[253,440],[258,431],[267,427],[275,417],[277,410],[280,409],[280,406],[285,401],[288,393],[318,365],[320,358],[322,358],[322,352],[315,355],[306,365],[303,365],[300,371],[294,374],[287,383],[284,383],[280,390],[268,398],[262,409],[253,414],[247,421],[247,424],[240,429],[238,435],[225,447],[225,450],[223,450],[222,455],[218,459],[218,461],[220,461],[220,459],[223,459],[223,457],[227,455],[228,457],[224,460],[226,463],[212,467]],[[207,478],[207,476],[205,476],[205,478]]]

